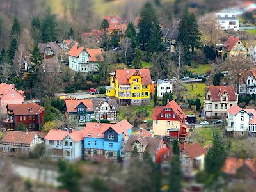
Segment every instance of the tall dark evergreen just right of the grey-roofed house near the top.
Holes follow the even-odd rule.
[[[191,59],[193,59],[195,48],[200,48],[200,35],[198,21],[194,13],[189,13],[186,10],[180,20],[178,40],[186,48],[187,63],[190,63]]]

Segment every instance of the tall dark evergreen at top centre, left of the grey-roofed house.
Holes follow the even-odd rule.
[[[149,42],[154,28],[159,29],[158,16],[152,4],[146,3],[141,10],[138,23],[138,37],[141,44],[145,45]]]

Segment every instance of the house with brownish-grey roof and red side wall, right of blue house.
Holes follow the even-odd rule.
[[[134,148],[138,150],[140,160],[143,160],[147,152],[155,163],[161,163],[170,156],[169,147],[166,145],[163,138],[139,137],[135,134],[129,136],[121,151],[121,157],[124,161],[128,161],[132,157]]]

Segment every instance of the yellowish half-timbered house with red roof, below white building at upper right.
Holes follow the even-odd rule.
[[[227,41],[222,45],[222,56],[227,55],[230,58],[237,56],[247,57],[248,49],[241,38],[236,36],[228,37]]]

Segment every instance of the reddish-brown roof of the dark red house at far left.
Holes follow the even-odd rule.
[[[44,112],[44,107],[37,103],[8,104],[6,108],[14,115],[39,115]]]

